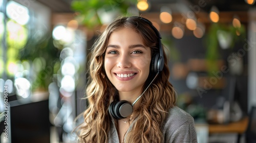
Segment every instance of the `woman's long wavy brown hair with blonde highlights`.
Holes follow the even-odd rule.
[[[158,37],[147,22],[138,17],[120,17],[114,20],[95,41],[89,61],[89,79],[86,89],[88,107],[83,112],[84,122],[77,128],[80,142],[108,142],[112,119],[108,108],[116,98],[117,89],[104,70],[104,54],[110,35],[122,28],[130,28],[141,35],[151,54],[159,51]],[[150,71],[143,90],[155,77]],[[170,108],[176,103],[175,91],[168,82],[169,69],[164,53],[164,67],[156,80],[141,97],[138,109],[131,117],[136,118],[132,130],[126,133],[125,142],[162,142],[162,124]]]

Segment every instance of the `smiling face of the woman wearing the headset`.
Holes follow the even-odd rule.
[[[117,90],[141,93],[150,73],[151,49],[129,28],[111,34],[105,52],[105,72]]]

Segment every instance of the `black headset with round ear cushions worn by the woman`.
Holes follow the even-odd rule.
[[[150,65],[151,71],[158,75],[160,73],[160,71],[163,70],[163,67],[164,67],[163,48],[162,48],[162,43],[161,43],[162,37],[161,37],[159,31],[153,26],[153,24],[150,20],[147,20],[146,18],[139,17],[139,16],[132,16],[131,18],[138,18],[139,20],[143,20],[144,22],[146,22],[152,28],[152,30],[154,30],[154,32],[156,33],[156,35],[158,37],[157,47],[159,47],[159,53],[158,52],[154,53],[154,55],[152,56],[151,65]],[[155,78],[153,79],[153,81],[155,80]],[[151,83],[150,83],[150,85],[151,85]],[[148,85],[147,88],[150,85]],[[144,92],[145,92],[145,90],[144,90]],[[142,96],[142,94],[140,95],[140,97]],[[133,103],[133,105],[139,100],[139,98],[137,98],[137,100]],[[110,104],[109,112],[116,120],[120,120],[121,118],[126,118],[127,116],[132,114],[133,105],[126,100],[113,101]]]

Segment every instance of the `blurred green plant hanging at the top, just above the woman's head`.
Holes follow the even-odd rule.
[[[127,9],[136,3],[136,0],[74,0],[71,7],[77,12],[76,18],[82,25],[94,29],[108,19],[106,14],[109,14],[109,19],[126,15]]]

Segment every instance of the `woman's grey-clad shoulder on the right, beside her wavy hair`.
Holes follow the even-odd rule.
[[[197,142],[194,118],[177,106],[170,108],[162,131],[164,139],[170,142]]]

